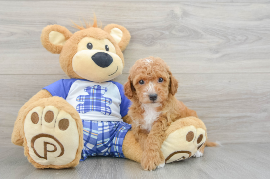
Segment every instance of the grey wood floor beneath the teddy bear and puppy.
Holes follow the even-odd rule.
[[[139,163],[123,158],[91,157],[71,169],[35,169],[23,148],[0,148],[3,179],[269,179],[270,144],[234,144],[207,147],[201,158],[144,171]],[[14,172],[16,171],[16,172]]]

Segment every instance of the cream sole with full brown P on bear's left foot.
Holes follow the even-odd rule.
[[[65,165],[79,146],[76,121],[54,106],[36,107],[26,116],[24,133],[30,157],[41,165]]]

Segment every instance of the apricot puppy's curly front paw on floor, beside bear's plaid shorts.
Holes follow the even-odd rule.
[[[141,165],[144,170],[148,171],[155,170],[156,167],[159,165],[159,163],[160,163],[159,152],[153,152],[148,150],[145,150],[143,152]]]

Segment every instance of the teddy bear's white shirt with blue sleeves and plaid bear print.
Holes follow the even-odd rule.
[[[52,96],[66,99],[83,120],[122,121],[130,105],[123,86],[114,81],[97,83],[81,79],[61,79],[43,89]]]

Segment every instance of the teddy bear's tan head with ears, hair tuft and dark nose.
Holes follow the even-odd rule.
[[[94,19],[95,20],[95,19]],[[41,34],[42,45],[60,54],[60,65],[70,78],[104,82],[122,74],[125,50],[130,40],[128,30],[109,24],[103,29],[76,25],[80,31],[72,34],[60,25],[49,25]]]

